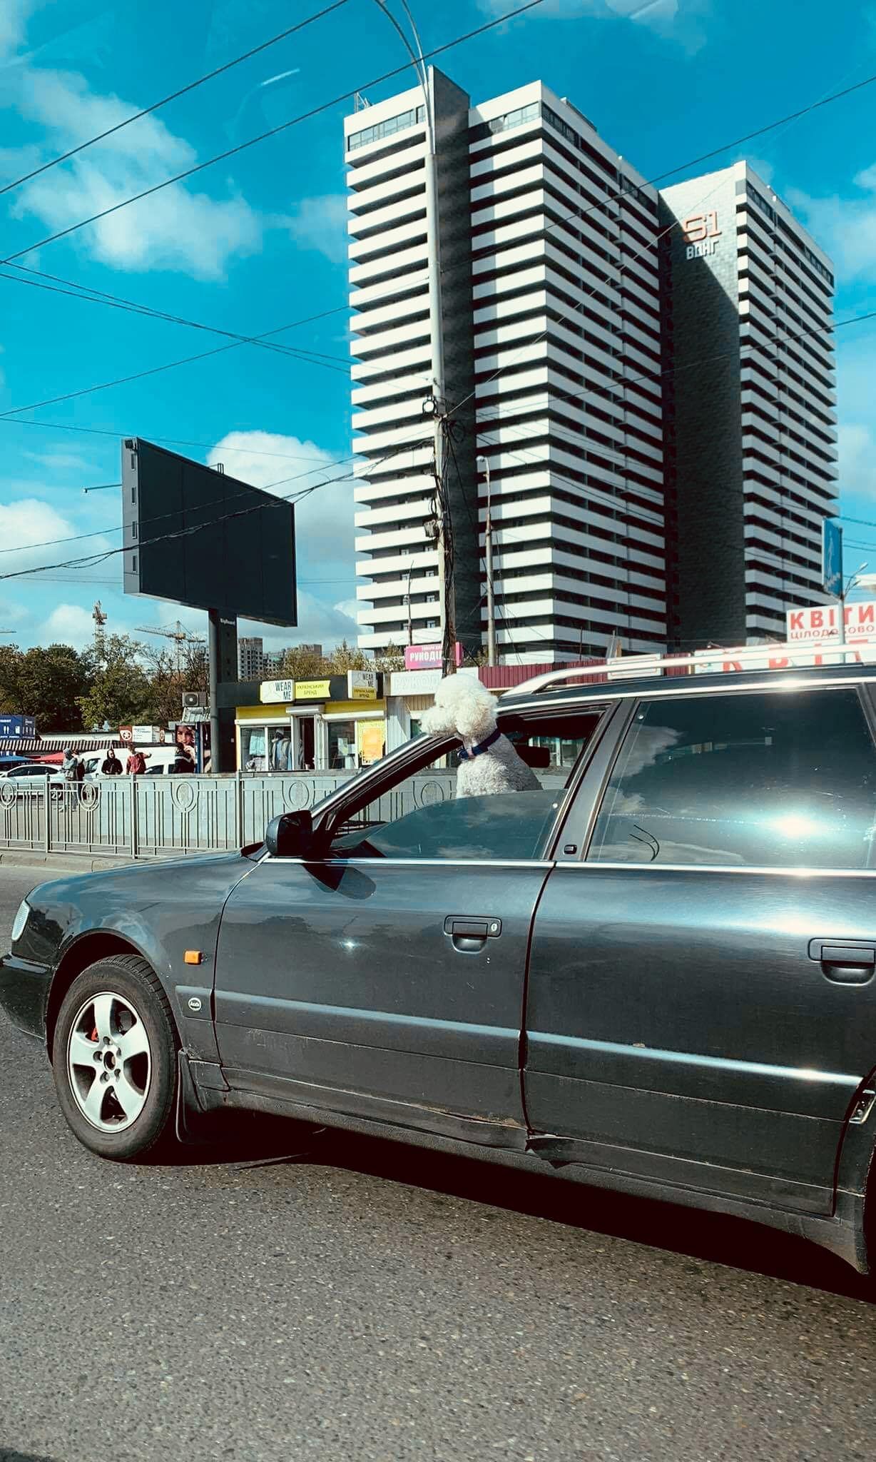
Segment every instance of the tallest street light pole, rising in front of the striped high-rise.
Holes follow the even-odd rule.
[[[402,38],[404,50],[410,56],[420,89],[423,94],[423,111],[426,123],[426,259],[429,275],[429,335],[432,339],[432,427],[434,427],[434,456],[435,456],[435,519],[438,553],[438,594],[441,611],[441,656],[444,673],[453,675],[456,671],[456,623],[453,611],[453,563],[450,561],[450,541],[447,523],[447,494],[444,490],[444,423],[447,415],[445,380],[444,380],[444,317],[441,307],[441,257],[438,250],[438,148],[435,137],[435,86],[429,79],[423,48],[418,35],[413,15],[407,0],[399,0],[413,35],[415,47],[410,44],[396,16],[387,9],[387,0],[375,0],[387,20]],[[450,569],[450,572],[448,572]]]

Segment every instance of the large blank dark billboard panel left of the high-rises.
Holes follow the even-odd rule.
[[[121,449],[124,592],[298,623],[295,509],[143,437]]]

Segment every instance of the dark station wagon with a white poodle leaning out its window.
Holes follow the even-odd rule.
[[[260,846],[31,893],[0,1001],[70,1127],[136,1161],[282,1113],[866,1270],[876,671],[556,671],[499,706],[539,789],[457,798],[420,737]]]

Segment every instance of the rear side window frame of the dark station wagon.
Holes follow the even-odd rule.
[[[704,697],[704,699],[714,699],[715,696],[727,696],[727,694],[733,694],[733,696],[756,696],[756,694],[764,694],[764,693],[772,694],[772,696],[797,696],[797,694],[806,694],[809,692],[818,692],[819,694],[829,696],[831,692],[841,692],[841,690],[853,690],[856,693],[858,705],[861,708],[861,713],[863,713],[867,731],[870,732],[870,743],[873,746],[873,756],[876,756],[876,681],[873,681],[873,680],[851,680],[850,678],[850,680],[831,681],[831,683],[825,683],[825,684],[821,684],[821,686],[818,684],[818,681],[807,681],[807,683],[794,684],[794,686],[791,686],[791,684],[785,684],[785,686],[783,686],[783,684],[771,684],[771,686],[752,686],[752,684],[746,684],[746,686],[730,686],[730,684],[729,686],[714,686],[712,684],[712,686],[708,686],[708,687],[704,686],[702,690],[698,690],[698,689],[694,689],[694,687],[685,689],[682,692],[677,692],[677,690],[673,692],[673,690],[664,690],[664,689],[657,690],[656,689],[653,692],[648,692],[648,694],[644,694],[644,696],[635,696],[635,694],[631,696],[629,702],[628,702],[628,708],[626,708],[626,715],[623,716],[623,724],[619,725],[619,730],[618,730],[618,735],[616,735],[616,740],[615,740],[615,744],[613,744],[613,749],[612,749],[612,754],[609,757],[606,757],[606,760],[604,760],[604,768],[603,768],[602,782],[600,782],[600,788],[599,788],[599,795],[594,798],[594,803],[593,803],[593,807],[591,807],[591,811],[590,811],[590,817],[588,817],[585,844],[581,846],[580,855],[575,857],[572,861],[575,861],[577,864],[580,864],[584,868],[612,868],[615,871],[618,871],[620,868],[623,868],[623,870],[629,868],[634,873],[638,873],[639,870],[653,870],[656,873],[661,873],[661,871],[663,873],[734,873],[734,874],[759,874],[759,873],[768,873],[768,874],[785,874],[785,876],[797,876],[797,877],[802,876],[802,874],[812,874],[813,877],[818,877],[818,876],[823,876],[823,877],[841,877],[841,876],[845,876],[845,877],[867,877],[867,879],[876,877],[876,868],[825,868],[825,867],[818,867],[818,866],[812,866],[812,864],[799,864],[799,863],[793,863],[793,864],[790,864],[790,863],[788,864],[752,864],[752,863],[721,864],[721,863],[669,863],[669,861],[667,863],[618,863],[618,861],[609,861],[609,860],[606,860],[606,861],[596,861],[596,860],[590,861],[590,848],[593,845],[593,836],[594,836],[594,832],[596,832],[596,823],[597,823],[599,814],[603,810],[603,804],[604,804],[604,800],[606,800],[606,794],[609,791],[609,785],[610,785],[612,776],[615,773],[615,768],[616,768],[616,765],[618,765],[618,762],[620,759],[620,753],[623,751],[623,747],[626,744],[626,737],[631,734],[632,727],[635,724],[635,718],[637,718],[638,712],[642,709],[642,706],[645,706],[645,705],[648,705],[648,703],[651,703],[654,700],[673,700],[676,696],[682,696],[683,699],[688,699],[689,696],[698,696],[698,697]]]

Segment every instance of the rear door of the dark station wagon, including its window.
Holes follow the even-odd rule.
[[[604,795],[581,794],[602,795],[587,858],[534,924],[546,1155],[831,1209],[876,1066],[872,725],[848,681],[631,702]]]

